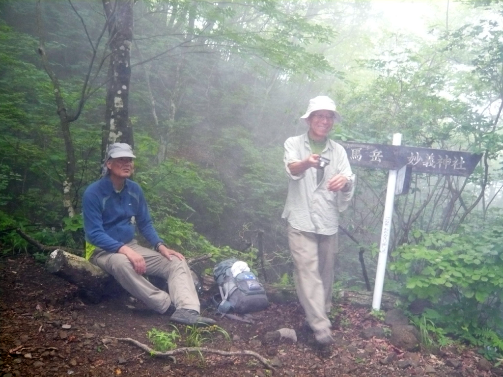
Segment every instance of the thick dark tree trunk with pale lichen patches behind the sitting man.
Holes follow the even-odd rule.
[[[128,117],[133,5],[132,0],[103,0],[110,48],[103,158],[110,144],[122,142],[133,146],[133,129]]]

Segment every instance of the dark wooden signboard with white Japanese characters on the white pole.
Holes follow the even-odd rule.
[[[338,141],[348,153],[352,166],[398,170],[411,166],[412,171],[430,174],[469,176],[482,154],[444,149],[405,147]]]

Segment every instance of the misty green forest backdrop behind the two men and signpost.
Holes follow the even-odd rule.
[[[334,140],[390,145],[401,133],[403,146],[481,154],[469,176],[412,172],[394,199],[385,290],[403,293],[429,263],[446,268],[412,263],[417,250],[478,250],[473,258],[501,266],[502,17],[502,2],[477,0],[4,1],[2,252],[40,254],[20,228],[82,250],[82,193],[120,141],[134,145],[134,180],[167,243],[187,255],[237,250],[291,283],[283,143],[307,131],[299,117],[324,95],[343,118]],[[361,260],[372,286],[388,169],[353,172],[336,280],[366,290]],[[435,283],[456,293],[406,295],[475,292],[446,280],[457,273]],[[483,273],[493,272],[470,270]],[[501,288],[500,273],[487,276]]]

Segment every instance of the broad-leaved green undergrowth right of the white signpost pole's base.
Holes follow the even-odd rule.
[[[409,302],[426,299],[434,305],[416,325],[437,342],[450,334],[503,351],[503,227],[413,235],[417,243],[396,248],[389,267],[403,281]]]

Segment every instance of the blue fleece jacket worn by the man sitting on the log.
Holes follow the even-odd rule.
[[[134,238],[135,226],[153,246],[162,240],[152,226],[143,191],[126,179],[120,193],[109,175],[89,185],[82,199],[86,241],[103,250],[117,252]]]

